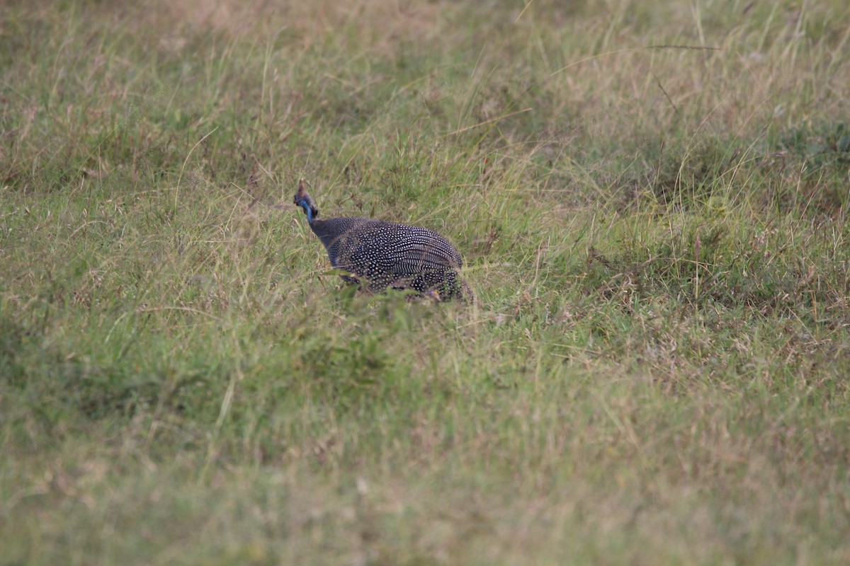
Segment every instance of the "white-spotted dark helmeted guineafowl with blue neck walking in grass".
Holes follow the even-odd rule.
[[[293,202],[325,244],[331,266],[352,274],[343,276],[346,281],[374,292],[392,287],[435,292],[440,300],[473,299],[472,289],[458,275],[461,255],[433,230],[368,218],[318,220],[319,209],[303,179]]]

